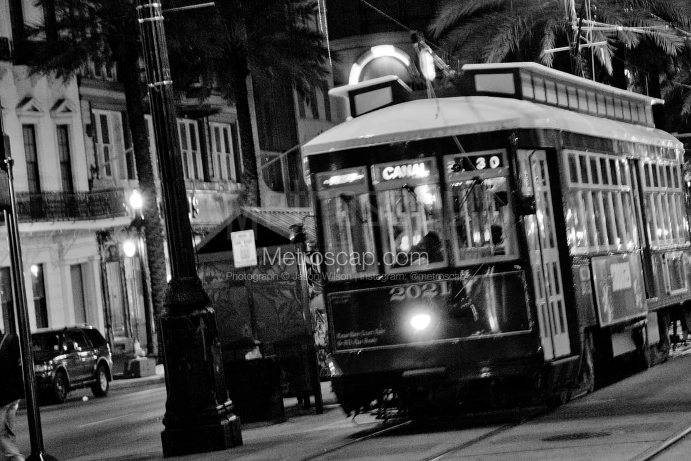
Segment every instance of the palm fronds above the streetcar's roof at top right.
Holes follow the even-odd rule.
[[[580,16],[587,13],[580,4],[576,11]],[[688,26],[691,6],[685,0],[592,1],[589,14],[603,25],[622,27],[591,31],[592,42],[608,43],[592,48],[596,60],[588,72],[599,73],[600,77],[614,74],[609,79],[623,86],[626,60],[650,52],[642,44],[650,44],[668,57],[675,57],[683,49],[684,34],[673,26]],[[449,55],[462,56],[464,62],[527,60],[568,71],[571,62],[567,53],[547,50],[568,45],[569,28],[561,1],[451,0],[437,10],[429,32]]]

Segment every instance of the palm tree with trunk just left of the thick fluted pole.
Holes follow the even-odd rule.
[[[28,28],[30,41],[25,59],[33,73],[55,73],[57,77],[72,78],[90,59],[97,65],[117,63],[118,77],[124,87],[129,129],[135,157],[135,167],[144,205],[144,236],[151,276],[153,317],[158,319],[163,308],[167,285],[163,230],[156,200],[156,187],[151,157],[149,131],[144,119],[144,88],[140,79],[139,29],[135,17],[135,2],[131,0],[41,0],[50,3],[55,17],[43,24]],[[41,39],[41,37],[46,37]],[[158,326],[158,321],[155,322]],[[150,338],[147,338],[150,339]],[[151,343],[151,341],[147,341]],[[162,354],[161,336],[158,352]],[[149,346],[151,351],[151,345]]]

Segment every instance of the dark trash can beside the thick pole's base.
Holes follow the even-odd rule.
[[[261,342],[241,339],[223,348],[225,384],[240,422],[285,422],[275,355],[261,354]]]

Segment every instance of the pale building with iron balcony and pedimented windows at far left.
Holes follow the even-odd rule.
[[[31,328],[92,323],[104,330],[97,232],[129,224],[122,188],[92,189],[76,79],[31,75],[12,62],[12,35],[41,8],[0,1],[0,104],[17,191]],[[0,226],[0,235],[6,226]],[[0,245],[2,328],[12,321],[8,247]]]

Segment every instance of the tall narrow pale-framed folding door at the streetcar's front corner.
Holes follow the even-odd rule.
[[[522,193],[535,197],[536,214],[525,216],[533,268],[535,302],[545,358],[571,353],[561,266],[554,227],[547,156],[545,151],[519,150]]]

